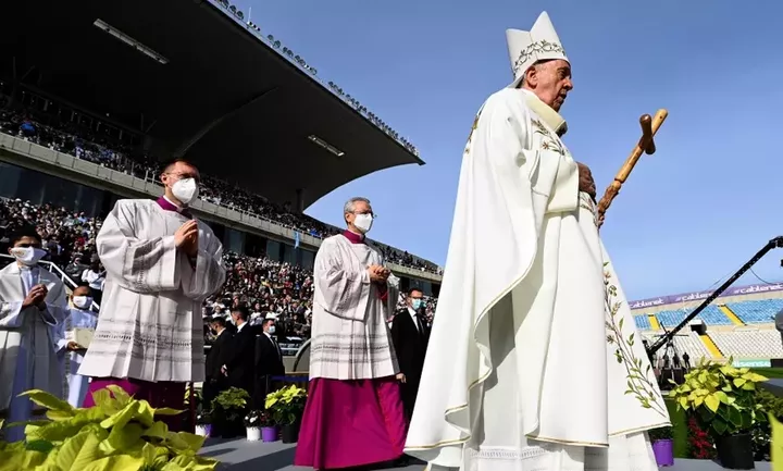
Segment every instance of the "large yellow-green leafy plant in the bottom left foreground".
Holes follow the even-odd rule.
[[[182,411],[153,409],[119,386],[94,393],[96,406],[89,409],[39,389],[23,395],[46,408],[48,420],[26,422],[24,442],[0,443],[0,471],[210,471],[217,466],[197,456],[203,437],[170,432],[154,420]]]

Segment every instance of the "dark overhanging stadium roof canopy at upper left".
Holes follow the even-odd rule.
[[[183,154],[275,202],[301,188],[308,207],[369,173],[424,163],[226,7],[3,3],[0,76],[146,131],[156,153]]]

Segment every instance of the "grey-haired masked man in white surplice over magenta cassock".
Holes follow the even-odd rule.
[[[294,459],[319,470],[396,460],[406,436],[405,376],[386,326],[398,280],[365,243],[370,200],[351,198],[343,216],[347,230],[315,255],[310,388]]]

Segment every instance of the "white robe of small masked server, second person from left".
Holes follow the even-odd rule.
[[[78,374],[85,351],[71,351],[67,349],[67,344],[74,340],[74,329],[95,330],[98,325],[98,314],[76,308],[70,309],[69,312],[70,315],[65,318],[65,322],[61,322],[55,329],[54,349],[58,352],[60,371],[65,380],[64,397],[67,398],[71,406],[82,407],[89,387],[89,376]]]

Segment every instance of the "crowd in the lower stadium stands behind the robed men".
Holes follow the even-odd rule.
[[[102,220],[50,204],[35,206],[18,199],[0,199],[0,252],[8,252],[8,235],[15,228],[33,225],[44,239],[48,261],[52,261],[76,283],[96,285],[91,271],[101,273],[96,253],[96,236]],[[204,302],[203,317],[229,314],[232,307],[250,307],[252,320],[268,313],[277,315],[283,335],[309,337],[312,307],[312,272],[298,265],[268,258],[226,252],[226,282],[217,295]],[[99,300],[97,297],[96,300]],[[435,309],[430,299],[427,311]]]

